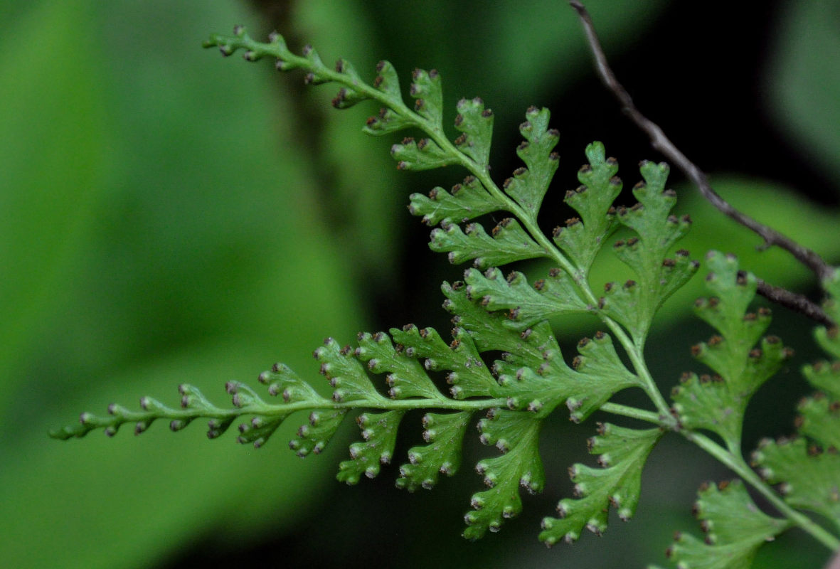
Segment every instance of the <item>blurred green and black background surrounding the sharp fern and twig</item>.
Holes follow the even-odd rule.
[[[640,108],[718,191],[837,261],[840,5],[771,2],[724,18],[701,2],[587,4]],[[200,425],[46,436],[112,401],[174,403],[180,382],[221,402],[224,382],[277,360],[319,382],[310,354],[327,335],[449,328],[438,286],[461,269],[429,254],[405,204],[463,172],[398,174],[391,140],[360,134],[375,108],[335,112],[332,89],[304,89],[265,62],[223,61],[200,48],[208,33],[278,29],[294,48],[311,42],[370,77],[388,58],[406,84],[414,66],[437,67],[449,103],[480,95],[494,109],[499,180],[517,166],[525,108],[552,108],[561,171],[541,218],[550,229],[569,217],[559,198],[591,140],[622,161],[627,187],[635,162],[661,159],[597,83],[564,3],[6,0],[0,17],[0,566],[643,566],[664,562],[674,529],[696,531],[697,485],[727,474],[665,440],[632,523],[546,551],[538,519],[568,493],[565,468],[588,460],[591,435],[560,416],[543,433],[545,495],[476,544],[459,538],[480,486],[467,466],[418,495],[393,488],[395,467],[359,487],[335,482],[352,425],[306,461],[285,448],[294,421],[263,450],[232,435],[207,441]],[[755,237],[676,174],[674,184],[695,220],[685,244],[695,256],[729,250],[769,282],[815,293],[789,256],[757,252]],[[626,277],[605,258],[594,279]],[[649,342],[665,390],[697,369],[688,347],[709,334],[690,319],[700,294],[696,279]],[[791,402],[807,389],[797,367],[817,356],[810,324],[775,313],[800,356],[751,406],[749,444],[790,432]],[[591,325],[559,335],[571,344]],[[491,454],[475,440],[466,453]],[[757,567],[826,557],[796,533],[764,550]]]

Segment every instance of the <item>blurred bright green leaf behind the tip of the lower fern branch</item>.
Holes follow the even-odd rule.
[[[237,445],[234,433],[210,441],[204,424],[176,434],[164,423],[153,424],[136,438],[120,433],[113,440],[92,433],[82,441],[58,442],[44,432],[94,400],[102,407],[93,410],[101,412],[129,390],[176,403],[175,386],[185,378],[214,402],[229,403],[219,379],[265,358],[265,349],[248,344],[237,337],[192,345],[185,353],[132,366],[16,426],[0,471],[0,563],[152,566],[167,551],[210,532],[248,543],[291,524],[331,472],[282,445],[254,450]],[[291,439],[297,423],[290,419],[281,427],[277,442]],[[339,445],[322,460],[338,460],[335,450]]]

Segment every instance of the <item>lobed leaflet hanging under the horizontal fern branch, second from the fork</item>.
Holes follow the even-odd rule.
[[[470,500],[473,510],[464,516],[468,540],[480,538],[488,529],[498,531],[505,519],[522,511],[520,486],[530,493],[543,491],[545,475],[538,449],[542,424],[533,415],[501,409],[491,409],[486,419],[480,420],[481,442],[496,445],[503,454],[475,466],[490,488],[473,494]]]

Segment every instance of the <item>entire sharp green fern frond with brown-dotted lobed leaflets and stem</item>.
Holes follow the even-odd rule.
[[[648,371],[643,349],[654,316],[700,266],[688,251],[675,250],[690,228],[690,219],[671,213],[676,197],[665,188],[668,166],[643,162],[643,181],[633,187],[638,203],[615,207],[613,201],[622,189],[617,161],[606,157],[601,143],[592,143],[585,150],[588,164],[578,172],[580,187],[564,198],[577,215],[549,236],[537,224],[559,164],[554,153],[558,133],[549,126],[547,109],[528,109],[517,148],[524,166],[499,186],[489,173],[493,113],[479,98],[462,99],[454,119],[459,135],[450,140],[444,132],[437,71],[414,71],[409,107],[387,61],[377,66],[375,80],[368,84],[348,61],[339,60],[333,69],[311,47],[302,56],[292,54],[278,34],[272,34],[269,43],[259,43],[237,27],[233,36],[211,36],[206,46],[218,46],[223,55],[244,49],[248,61],[273,57],[278,70],[301,69],[310,84],[338,83],[336,108],[366,99],[379,103],[379,113],[367,119],[366,133],[403,129],[423,133],[391,147],[401,170],[465,169],[463,182],[449,190],[435,187],[428,196],[413,194],[409,206],[412,214],[434,226],[433,250],[447,253],[454,264],[472,263],[462,281],[444,282],[442,287],[444,308],[454,324],[452,340],[413,324],[389,333],[360,334],[355,345],[344,347],[328,339],[314,356],[333,388],[330,398],[322,397],[287,366],[276,364],[260,374],[265,395],[229,382],[232,408],[216,407],[197,388],[185,384],[179,387],[180,408],[152,398],[142,398],[136,411],[114,404],[108,415],[81,414],[79,424],[52,436],[81,437],[93,429],[114,435],[125,423],[134,424],[139,434],[158,419],[168,419],[171,429],[179,430],[203,418],[209,420],[207,435],[216,438],[244,418],[237,440],[261,446],[290,415],[303,412],[307,419],[289,445],[298,456],[307,456],[323,450],[344,416],[353,412],[361,440],[350,445],[349,460],[339,465],[338,474],[339,480],[353,484],[362,476],[375,477],[381,465],[396,460],[396,435],[404,415],[423,409],[425,444],[408,450],[396,479],[397,487],[414,491],[431,488],[440,475],[459,471],[462,441],[474,416],[482,414],[480,441],[495,445],[500,454],[475,465],[486,488],[470,499],[464,535],[476,539],[487,530],[497,531],[505,519],[521,511],[520,487],[530,493],[543,489],[538,451],[543,420],[558,408],[564,408],[575,423],[601,410],[647,423],[649,428],[597,426],[590,450],[598,466],[570,468],[576,495],[560,501],[556,516],[543,519],[539,539],[545,544],[577,540],[584,529],[600,535],[606,530],[611,505],[620,519],[632,517],[645,461],[660,438],[674,432],[729,466],[774,506],[778,516],[761,512],[738,480],[706,484],[696,504],[706,540],[677,535],[668,550],[677,566],[748,566],[764,540],[792,525],[837,549],[837,536],[801,510],[819,514],[835,525],[835,531],[840,529],[840,363],[821,362],[806,369],[806,377],[820,393],[801,403],[799,435],[765,441],[753,453],[758,473],[753,471],[741,450],[744,410],[750,396],[790,357],[790,350],[774,336],[763,337],[769,311],[748,311],[756,280],[739,271],[734,258],[717,252],[706,257],[710,296],[696,303],[696,312],[717,333],[692,351],[709,371],[685,374],[673,390],[672,403]],[[475,220],[488,213],[501,217],[489,232]],[[630,236],[610,244],[608,238],[619,227]],[[604,292],[596,293],[590,269],[607,245],[636,278],[607,282]],[[538,258],[555,268],[538,275],[533,284],[521,272],[506,277],[500,269]],[[840,294],[840,278],[825,284],[827,292]],[[840,308],[833,301],[827,310],[835,322],[840,321]],[[591,314],[604,330],[580,340],[577,354],[567,362],[549,319],[556,322],[574,313]],[[832,357],[840,358],[836,328],[822,329],[817,338]],[[438,373],[445,375],[448,393],[433,379]],[[615,393],[629,387],[643,390],[652,409],[612,403]],[[769,484],[779,484],[781,493]]]

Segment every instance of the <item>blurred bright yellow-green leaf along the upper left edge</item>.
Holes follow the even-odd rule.
[[[5,53],[19,52],[13,45],[30,46],[0,61],[3,385],[24,380],[12,371],[32,354],[34,335],[76,272],[113,143],[97,105],[102,64],[92,38],[80,33],[87,14],[70,4],[41,4],[24,10],[0,40]],[[68,45],[74,45],[70,52]],[[12,393],[0,389],[0,413]]]

